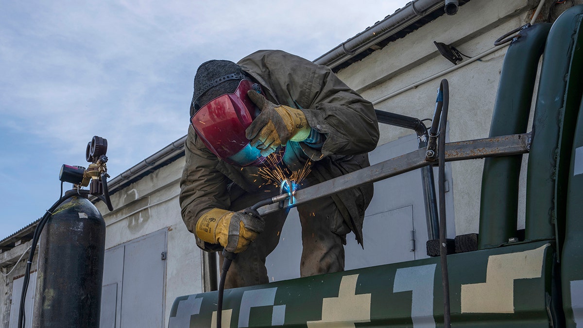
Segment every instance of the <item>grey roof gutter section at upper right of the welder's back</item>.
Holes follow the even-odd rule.
[[[335,68],[444,5],[444,0],[411,1],[384,20],[375,23],[375,25],[368,27],[363,32],[356,34],[356,36],[316,58],[314,62],[329,68]]]

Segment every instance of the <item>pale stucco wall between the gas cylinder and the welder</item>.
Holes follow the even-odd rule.
[[[180,158],[118,191],[111,196],[112,212],[96,204],[106,221],[106,250],[167,229],[164,326],[177,296],[202,292],[201,250],[182,222],[178,203],[183,167]]]

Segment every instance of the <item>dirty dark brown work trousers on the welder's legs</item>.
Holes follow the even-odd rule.
[[[279,190],[243,194],[231,200],[231,210],[250,207],[266,198],[277,196]],[[331,197],[320,198],[297,207],[300,215],[301,253],[300,275],[332,273],[344,270],[344,245],[350,228]],[[265,258],[279,243],[287,211],[263,215],[265,231],[231,263],[225,281],[225,288],[245,287],[269,282]],[[298,245],[299,247],[299,245]],[[223,256],[219,253],[220,266]]]

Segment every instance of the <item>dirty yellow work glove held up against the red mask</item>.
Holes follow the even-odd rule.
[[[259,149],[261,155],[269,155],[290,140],[304,141],[310,135],[310,124],[303,111],[276,105],[255,90],[249,90],[247,95],[261,109],[261,114],[253,120],[245,134],[251,140],[251,146]]]

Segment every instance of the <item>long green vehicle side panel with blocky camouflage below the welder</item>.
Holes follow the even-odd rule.
[[[456,327],[548,327],[553,253],[551,243],[534,242],[449,256],[452,322]],[[224,326],[439,327],[440,272],[439,259],[433,258],[227,289],[223,315],[230,314],[223,316],[229,319]],[[508,288],[487,296],[488,301],[508,306],[510,298],[511,307],[468,311],[483,294],[462,294],[490,277]],[[214,327],[216,302],[217,292],[177,298],[168,327]]]

